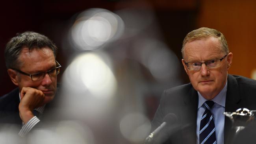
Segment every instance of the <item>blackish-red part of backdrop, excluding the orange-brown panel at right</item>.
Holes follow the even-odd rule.
[[[145,1],[146,2],[146,1]],[[198,13],[197,0],[149,0],[147,1],[156,14],[164,41],[173,48],[178,58],[181,58],[180,48],[186,33],[196,28],[195,18]],[[36,31],[52,39],[59,48],[57,60],[65,69],[67,57],[63,55],[61,40],[69,25],[70,18],[89,8],[104,8],[110,11],[135,7],[148,9],[142,0],[8,0],[0,6],[0,95],[6,94],[15,85],[7,75],[4,63],[5,44],[16,33]],[[71,52],[72,53],[72,52]],[[183,77],[184,76],[184,77]],[[185,74],[182,74],[187,81]]]

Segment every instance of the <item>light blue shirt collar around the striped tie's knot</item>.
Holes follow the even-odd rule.
[[[228,88],[228,81],[226,81],[226,84],[224,86],[224,88],[221,90],[221,92],[219,92],[219,94],[217,94],[217,96],[215,96],[212,101],[225,107],[225,103],[226,103],[226,93],[227,93],[227,88]],[[207,100],[200,94],[200,92],[198,93],[198,109],[204,104],[204,102],[206,102]]]

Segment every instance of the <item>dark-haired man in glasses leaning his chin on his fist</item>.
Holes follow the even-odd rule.
[[[6,44],[7,72],[17,88],[0,97],[0,122],[20,126],[21,137],[39,124],[56,95],[61,67],[56,52],[48,37],[31,31],[17,34]]]

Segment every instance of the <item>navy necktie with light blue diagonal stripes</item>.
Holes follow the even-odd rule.
[[[214,102],[211,100],[204,102],[205,111],[200,122],[199,144],[216,144],[215,125],[210,111],[213,105]]]

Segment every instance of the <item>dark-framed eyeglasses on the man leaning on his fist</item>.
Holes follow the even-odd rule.
[[[52,77],[52,76],[57,76],[60,72],[60,68],[61,68],[61,65],[58,63],[58,61],[56,61],[56,64],[57,64],[57,67],[56,68],[53,68],[51,70],[48,70],[47,72],[37,72],[37,73],[34,73],[34,74],[27,74],[26,72],[22,72],[21,70],[18,70],[18,69],[14,69],[13,70],[16,70],[17,72],[19,72],[20,74],[24,74],[26,76],[30,76],[30,78],[32,79],[32,81],[38,81],[38,80],[41,80],[43,78],[45,78],[45,75],[46,73]]]

